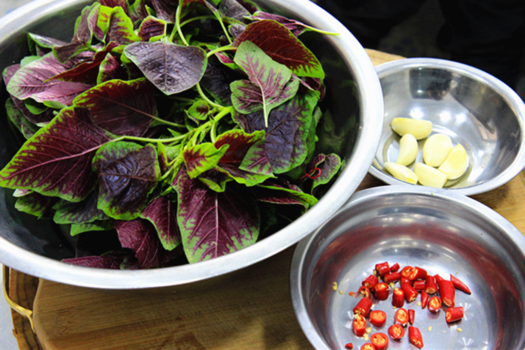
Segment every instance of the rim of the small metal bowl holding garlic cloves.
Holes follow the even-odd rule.
[[[518,175],[523,168],[525,168],[525,103],[518,95],[516,91],[511,89],[506,83],[500,79],[490,75],[489,73],[466,65],[464,63],[459,63],[456,61],[440,59],[440,58],[424,58],[424,57],[414,57],[414,58],[405,58],[395,61],[381,63],[376,67],[377,76],[380,81],[381,78],[389,75],[390,73],[398,72],[401,70],[406,70],[409,68],[447,68],[455,73],[460,75],[474,78],[485,83],[491,89],[496,91],[503,100],[505,100],[509,107],[516,113],[520,129],[523,131],[521,133],[521,148],[516,155],[516,159],[512,164],[506,169],[505,172],[498,174],[496,177],[490,179],[489,181],[475,184],[465,187],[444,187],[443,189],[451,193],[459,193],[467,196],[476,195],[480,193],[488,192],[491,189],[497,188],[503,184],[509,182],[512,178]],[[384,123],[384,121],[383,121]],[[375,155],[374,155],[375,160]],[[369,168],[369,174],[375,178],[380,179],[386,184],[390,185],[409,185],[421,187],[421,184],[408,184],[405,183],[386,172],[381,171],[379,168],[374,166],[374,163]]]

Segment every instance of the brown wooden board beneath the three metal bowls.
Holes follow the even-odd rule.
[[[375,65],[401,58],[367,50]],[[380,185],[367,175],[359,189]],[[473,196],[525,232],[525,175]],[[10,296],[34,310],[36,336],[13,313],[22,350],[311,349],[290,299],[291,247],[214,289],[177,294],[93,290],[10,274]],[[38,288],[37,288],[38,287]]]

